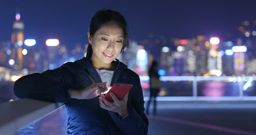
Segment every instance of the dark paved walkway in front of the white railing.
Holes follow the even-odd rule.
[[[148,115],[153,134],[256,134],[255,102],[161,102]]]

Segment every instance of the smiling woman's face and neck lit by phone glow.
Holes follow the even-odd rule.
[[[111,62],[120,54],[123,47],[123,29],[114,21],[104,24],[93,37],[88,32],[92,44],[92,63],[97,69],[111,66]]]

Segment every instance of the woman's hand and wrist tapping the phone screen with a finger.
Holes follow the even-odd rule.
[[[77,98],[79,100],[86,100],[95,98],[101,93],[107,90],[107,83],[93,83],[91,86],[86,88],[77,90],[77,89],[70,89],[69,90],[69,97],[70,98]]]

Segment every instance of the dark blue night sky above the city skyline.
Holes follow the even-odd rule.
[[[34,38],[45,46],[48,38],[58,38],[69,48],[87,44],[89,21],[96,11],[110,8],[127,19],[132,40],[171,37],[217,36],[221,40],[242,37],[237,30],[242,21],[256,20],[255,0],[215,1],[98,1],[98,0],[2,0],[0,1],[0,42],[10,40],[17,11],[25,23],[25,39]],[[227,34],[230,33],[230,39]],[[170,45],[171,46],[171,45]]]

